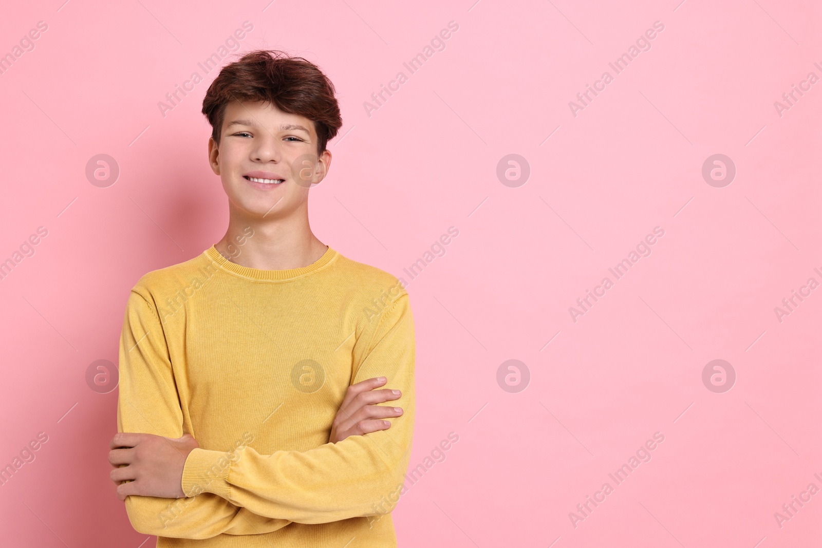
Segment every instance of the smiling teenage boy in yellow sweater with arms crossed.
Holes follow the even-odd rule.
[[[224,67],[205,94],[229,228],[136,283],[120,339],[111,479],[157,546],[396,546],[413,316],[395,276],[308,225],[342,124],[334,94],[276,51]]]

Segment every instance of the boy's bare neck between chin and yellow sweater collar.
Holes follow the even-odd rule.
[[[239,214],[229,205],[229,228],[215,248],[240,266],[284,270],[312,265],[328,246],[312,233],[307,208],[286,218],[263,220]]]

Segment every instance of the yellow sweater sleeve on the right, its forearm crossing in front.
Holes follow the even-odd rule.
[[[351,384],[386,376],[386,387],[402,391],[393,403],[404,413],[391,419],[389,429],[307,451],[259,454],[246,446],[228,465],[224,452],[194,449],[183,469],[183,492],[205,490],[252,513],[296,523],[373,516],[386,513],[386,505],[392,509],[404,493],[415,415],[408,293],[402,292],[372,320],[373,327],[355,343]]]

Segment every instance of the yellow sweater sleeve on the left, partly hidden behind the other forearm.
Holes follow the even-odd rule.
[[[119,361],[118,432],[180,437],[182,410],[163,326],[155,308],[133,290],[122,324]],[[132,527],[146,535],[190,539],[220,533],[254,535],[290,523],[240,509],[210,493],[180,499],[129,495],[125,504]]]

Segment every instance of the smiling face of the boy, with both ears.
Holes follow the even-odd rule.
[[[331,153],[318,157],[316,142],[307,117],[274,104],[233,102],[225,108],[219,147],[209,139],[209,161],[232,210],[283,218],[303,206],[309,188],[328,173]]]

